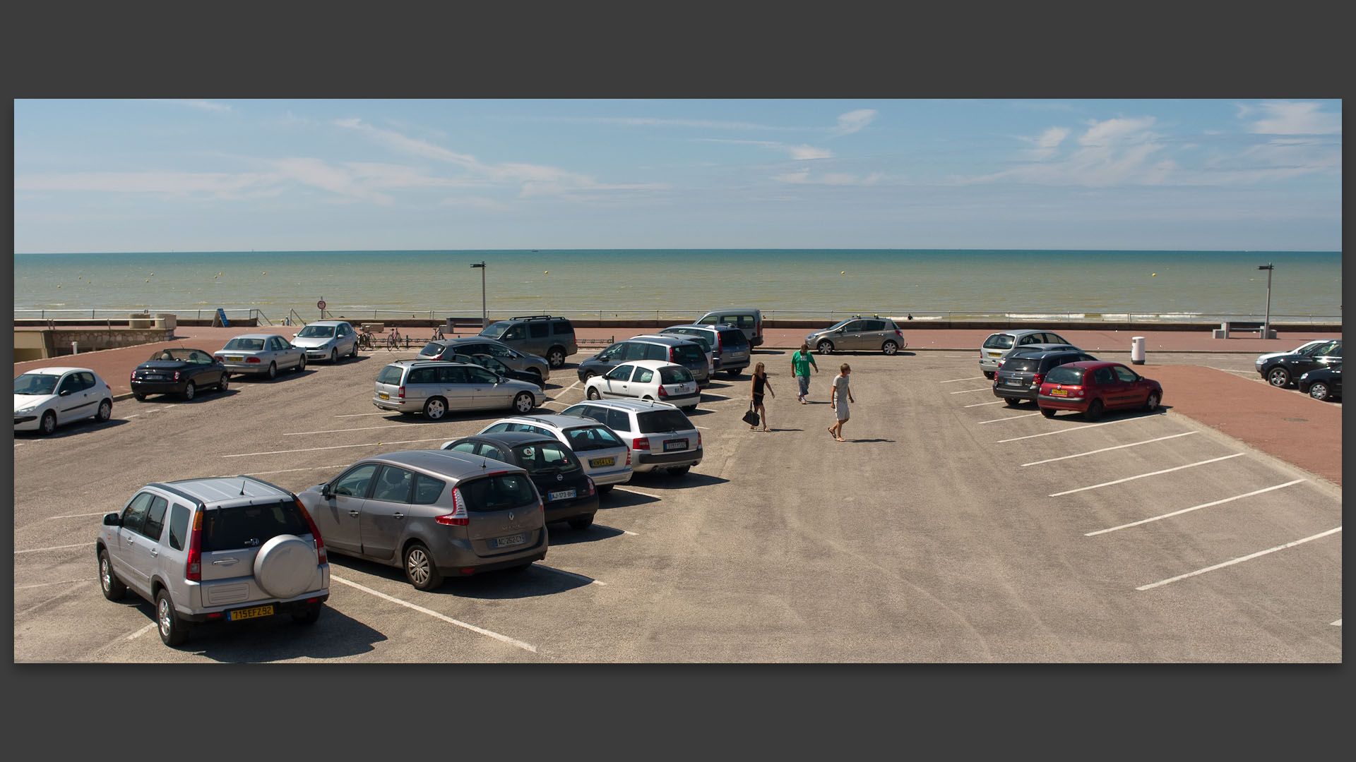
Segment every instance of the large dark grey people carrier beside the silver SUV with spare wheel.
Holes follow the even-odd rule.
[[[400,567],[419,590],[546,557],[545,511],[527,470],[479,456],[373,456],[300,498],[331,550]]]

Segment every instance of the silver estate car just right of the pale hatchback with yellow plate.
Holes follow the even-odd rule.
[[[631,445],[631,468],[636,473],[662,468],[682,476],[701,462],[701,431],[669,403],[589,400],[561,415],[591,418],[616,431]]]

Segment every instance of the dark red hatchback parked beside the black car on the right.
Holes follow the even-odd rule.
[[[1153,412],[1163,388],[1119,362],[1081,361],[1052,367],[1040,384],[1036,404],[1045,418],[1071,409],[1096,420],[1104,409],[1140,408]]]

